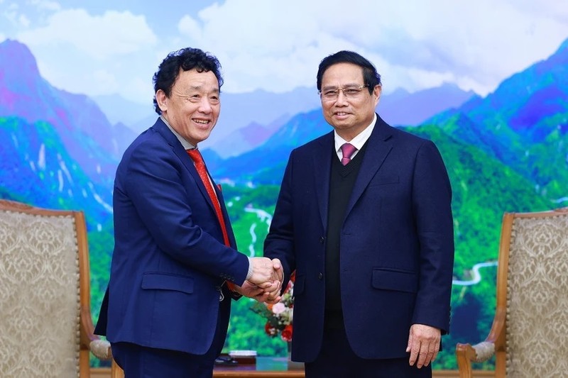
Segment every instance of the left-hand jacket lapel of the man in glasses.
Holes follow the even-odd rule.
[[[314,162],[315,196],[317,198],[322,226],[327,229],[327,211],[329,206],[329,174],[332,169],[330,152],[334,148],[334,133],[331,132],[320,138],[319,143],[312,149]]]

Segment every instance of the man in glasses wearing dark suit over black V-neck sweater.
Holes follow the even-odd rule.
[[[306,377],[431,377],[449,330],[452,189],[434,143],[376,113],[381,77],[324,58],[334,131],[290,154],[265,256],[296,271],[293,360]]]

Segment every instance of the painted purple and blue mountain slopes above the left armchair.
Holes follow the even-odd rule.
[[[0,197],[85,212],[97,306],[113,245],[114,172],[134,135],[89,97],[52,87],[13,40],[0,43],[0,99]]]

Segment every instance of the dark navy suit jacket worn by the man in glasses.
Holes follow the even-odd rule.
[[[280,258],[287,277],[296,269],[294,360],[315,360],[322,343],[333,150],[328,133],[291,152],[265,242],[265,255]],[[360,357],[408,357],[413,323],[449,329],[451,201],[434,143],[378,118],[340,235],[344,325]]]

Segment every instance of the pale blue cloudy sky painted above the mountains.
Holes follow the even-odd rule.
[[[180,5],[182,4],[182,5]],[[55,87],[147,102],[165,55],[219,57],[223,90],[315,87],[320,60],[360,52],[388,93],[443,82],[488,94],[568,38],[558,0],[0,0],[0,41],[28,45]]]

